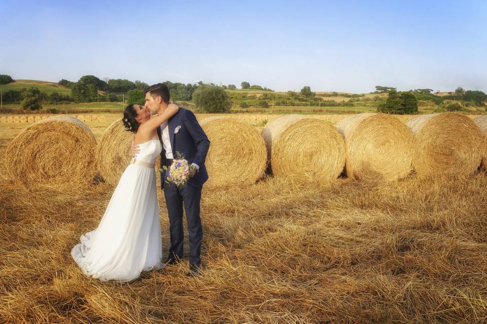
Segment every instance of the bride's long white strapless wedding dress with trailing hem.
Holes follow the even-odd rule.
[[[71,251],[86,275],[130,281],[163,267],[154,169],[161,150],[159,140],[140,144],[136,163],[123,172],[100,224]]]

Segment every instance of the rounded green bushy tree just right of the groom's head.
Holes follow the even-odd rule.
[[[193,99],[196,109],[210,113],[229,112],[232,104],[230,97],[223,88],[212,85],[196,89],[193,93]]]

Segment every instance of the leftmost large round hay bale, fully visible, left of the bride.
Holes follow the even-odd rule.
[[[76,118],[51,117],[34,123],[7,148],[7,171],[27,187],[73,189],[95,175],[95,137]]]

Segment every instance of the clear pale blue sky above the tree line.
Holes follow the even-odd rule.
[[[0,0],[0,74],[487,92],[486,1]]]

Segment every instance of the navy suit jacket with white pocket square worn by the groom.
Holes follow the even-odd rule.
[[[194,177],[188,180],[188,184],[193,187],[201,187],[208,180],[208,173],[204,166],[204,160],[210,148],[210,140],[196,120],[193,112],[180,107],[178,112],[167,121],[169,128],[169,141],[171,142],[172,156],[178,158],[176,152],[184,155],[188,163],[195,163],[199,170]],[[181,126],[181,127],[180,127]],[[176,128],[178,132],[175,134]],[[157,133],[161,134],[161,128]],[[161,168],[166,165],[166,150],[164,147],[161,152]],[[161,172],[161,188],[164,188],[165,174]]]

